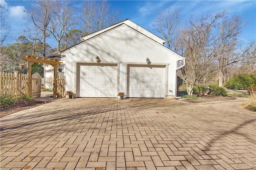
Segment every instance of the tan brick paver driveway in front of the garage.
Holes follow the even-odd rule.
[[[255,169],[256,115],[241,100],[59,99],[1,119],[1,167]]]

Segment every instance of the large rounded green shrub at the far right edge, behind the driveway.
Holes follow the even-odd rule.
[[[243,73],[234,74],[228,81],[224,83],[227,89],[245,90],[250,85],[256,84],[256,74]]]

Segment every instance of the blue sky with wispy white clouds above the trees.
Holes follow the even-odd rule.
[[[174,1],[119,1],[110,0],[111,8],[120,10],[120,20],[130,19],[136,24],[156,34],[152,29],[152,21],[156,18],[156,15],[162,10],[166,10],[170,6],[178,7],[180,11],[180,26],[183,26],[186,21],[191,17],[202,17],[206,14],[216,14],[226,10],[229,12],[229,16],[239,15],[244,21],[248,22],[243,27],[243,31],[240,35],[240,39],[245,44],[256,40],[256,1],[234,1],[234,0],[215,0],[215,1],[195,1],[195,0],[174,0]],[[17,38],[22,35],[23,30],[26,28],[27,22],[23,19],[23,10],[28,8],[29,5],[36,3],[36,1],[28,0],[1,0],[1,5],[6,6],[6,10],[1,10],[1,15],[5,18],[8,25],[11,27],[12,38]],[[79,7],[82,5],[82,1],[72,1],[74,7],[79,11]],[[14,40],[9,40],[8,43],[12,43]],[[47,40],[46,42],[51,45],[52,48],[56,47],[56,43],[53,40]]]

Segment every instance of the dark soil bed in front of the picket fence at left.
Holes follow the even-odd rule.
[[[9,105],[6,107],[0,107],[0,117],[4,117],[7,115],[10,115],[12,113],[17,113],[19,111],[24,111],[27,109],[31,109],[33,107],[37,107],[40,105],[43,105],[48,102],[44,101],[36,101],[36,100],[31,100],[31,101],[17,101],[14,105]]]

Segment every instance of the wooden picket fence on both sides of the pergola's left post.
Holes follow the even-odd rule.
[[[41,96],[41,76],[38,73],[32,75],[32,97],[34,99]],[[22,93],[28,93],[28,75],[17,73],[2,73],[0,76],[1,95],[11,95],[20,97]]]

